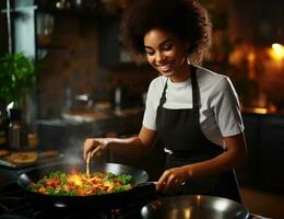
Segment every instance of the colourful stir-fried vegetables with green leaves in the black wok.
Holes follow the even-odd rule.
[[[66,174],[55,171],[36,183],[31,183],[27,189],[56,196],[88,196],[128,191],[131,182],[132,176],[127,174],[95,172],[87,176],[85,173]]]

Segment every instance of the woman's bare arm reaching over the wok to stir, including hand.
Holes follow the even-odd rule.
[[[84,142],[83,155],[86,160],[87,154],[97,147],[99,150],[110,148],[113,151],[128,154],[130,157],[142,155],[145,153],[154,143],[156,139],[156,131],[142,127],[139,136],[130,138],[88,138]],[[94,154],[92,154],[93,157]]]

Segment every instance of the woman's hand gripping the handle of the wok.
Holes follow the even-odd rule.
[[[186,166],[166,170],[156,184],[156,191],[163,194],[170,194],[188,180],[189,171]]]

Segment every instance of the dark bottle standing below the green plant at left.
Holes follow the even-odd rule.
[[[22,150],[27,145],[27,135],[22,124],[22,115],[20,108],[10,108],[10,124],[8,126],[8,142],[10,149]]]

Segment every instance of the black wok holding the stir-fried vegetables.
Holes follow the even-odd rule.
[[[54,196],[47,194],[40,194],[27,189],[27,186],[32,182],[37,182],[51,171],[63,171],[66,173],[71,173],[72,170],[85,171],[84,164],[56,164],[44,168],[34,169],[22,173],[17,178],[17,184],[24,188],[29,198],[37,203],[44,203],[47,205],[52,205],[56,207],[67,207],[72,205],[88,205],[92,206],[104,206],[114,205],[115,203],[121,203],[129,199],[133,194],[143,191],[154,191],[155,186],[153,183],[147,183],[149,175],[145,171],[135,169],[133,166],[118,164],[118,163],[105,163],[105,164],[94,164],[91,163],[90,172],[111,172],[115,174],[130,174],[133,176],[132,188],[129,191],[122,191],[118,193],[104,194],[104,195],[90,195],[90,196]],[[95,205],[94,205],[95,204]]]

